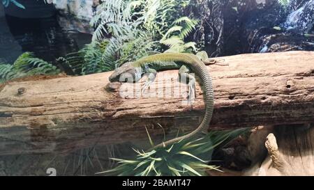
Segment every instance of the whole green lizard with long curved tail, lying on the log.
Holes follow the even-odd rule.
[[[203,62],[201,61],[203,58],[206,58],[204,54],[201,54],[201,56],[185,53],[155,54],[140,58],[135,62],[125,63],[120,68],[117,68],[109,77],[111,82],[136,82],[140,80],[144,74],[148,74],[147,82],[144,84],[144,88],[142,88],[142,92],[144,92],[144,90],[146,90],[154,81],[157,71],[179,69],[179,77],[186,77],[186,79],[188,79],[189,102],[191,102],[195,96],[195,78],[189,73],[193,71],[198,77],[200,77],[200,82],[204,86],[205,94],[205,114],[202,122],[193,132],[184,136],[173,138],[164,143],[160,143],[154,148],[160,148],[172,143],[177,143],[182,139],[192,138],[201,132],[207,131],[214,110],[214,88],[206,65],[213,64],[213,62],[206,62],[206,60]]]

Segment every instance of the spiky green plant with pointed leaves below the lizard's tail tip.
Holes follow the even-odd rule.
[[[186,139],[170,147],[158,148],[149,152],[135,150],[135,159],[117,159],[118,166],[110,171],[100,172],[105,175],[124,176],[184,176],[206,175],[208,170],[220,171],[218,166],[209,166],[211,155],[216,148],[223,147],[248,129],[234,131],[212,131],[201,138]],[[149,137],[149,141],[154,146]]]

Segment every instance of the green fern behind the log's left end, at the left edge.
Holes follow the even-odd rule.
[[[31,52],[20,55],[13,65],[0,63],[0,82],[36,74],[58,74],[60,70]]]

